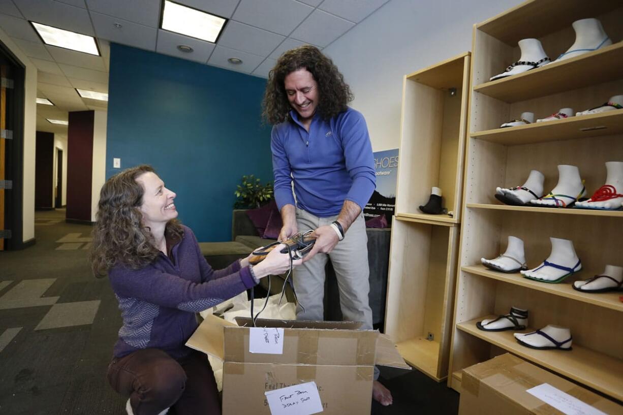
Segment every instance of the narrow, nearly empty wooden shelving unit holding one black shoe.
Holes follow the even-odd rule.
[[[385,332],[402,357],[447,377],[467,123],[470,54],[405,75]],[[424,214],[430,189],[449,214]]]

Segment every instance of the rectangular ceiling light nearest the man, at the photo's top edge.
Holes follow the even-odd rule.
[[[214,14],[164,0],[160,27],[166,31],[216,43],[225,22],[227,19],[214,16]]]

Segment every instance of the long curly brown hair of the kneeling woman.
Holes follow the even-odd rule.
[[[90,255],[96,277],[104,277],[115,264],[140,269],[158,256],[150,228],[142,222],[140,207],[145,189],[136,181],[148,172],[155,173],[148,165],[125,169],[102,186]],[[164,232],[169,236],[184,234],[176,219],[166,224]]]

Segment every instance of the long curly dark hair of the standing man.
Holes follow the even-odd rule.
[[[262,102],[262,116],[271,124],[287,119],[292,110],[285,93],[283,81],[291,72],[307,69],[318,83],[318,108],[316,111],[323,120],[329,120],[346,111],[346,105],[353,100],[353,93],[338,67],[323,55],[318,48],[310,45],[300,46],[284,52],[269,72],[269,79]]]

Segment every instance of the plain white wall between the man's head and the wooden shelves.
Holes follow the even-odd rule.
[[[473,24],[521,2],[390,0],[323,50],[351,86],[374,151],[399,146],[402,76],[471,50]]]

